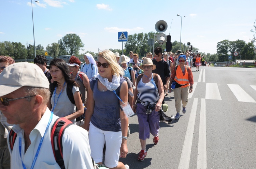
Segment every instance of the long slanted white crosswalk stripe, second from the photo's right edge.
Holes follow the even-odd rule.
[[[238,101],[242,102],[252,102],[255,103],[256,101],[248,95],[238,84],[227,84],[233,94],[236,96]]]

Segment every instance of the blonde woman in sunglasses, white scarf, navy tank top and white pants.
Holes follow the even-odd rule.
[[[96,65],[99,75],[89,82],[84,125],[89,131],[91,157],[101,165],[106,143],[105,166],[125,169],[129,166],[118,162],[119,157],[125,158],[128,153],[128,117],[120,109],[123,102],[128,102],[127,82],[120,77],[124,71],[109,50],[99,53]]]

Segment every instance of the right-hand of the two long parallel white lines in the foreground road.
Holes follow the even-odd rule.
[[[207,168],[205,99],[201,99],[197,169]]]

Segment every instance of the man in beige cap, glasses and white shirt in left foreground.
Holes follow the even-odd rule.
[[[17,133],[12,147],[8,137],[12,168],[60,168],[51,144],[51,128],[58,117],[46,105],[50,91],[43,71],[33,63],[14,63],[0,79],[0,110]],[[93,168],[88,133],[70,125],[62,136],[65,168]]]

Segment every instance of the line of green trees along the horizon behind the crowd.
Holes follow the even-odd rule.
[[[254,22],[254,29],[251,32],[256,33],[256,25]],[[153,45],[148,45],[148,39],[154,39],[154,35],[159,34],[158,32],[148,32],[148,33],[135,33],[133,35],[128,36],[128,41],[125,43],[124,54],[129,55],[129,51],[133,51],[133,53],[137,53],[139,56],[145,56],[147,52],[153,52]],[[256,59],[255,55],[255,45],[256,37],[254,34],[251,42],[246,43],[243,40],[229,41],[222,40],[217,43],[217,52],[215,54],[203,53],[199,52],[201,55],[204,55],[207,61],[228,61],[228,56],[232,56],[232,60],[236,59]],[[157,42],[154,43],[155,48],[157,46],[166,49],[166,44],[159,45]],[[187,44],[181,43],[182,50],[186,51],[190,49],[190,46]],[[58,43],[54,42],[51,45],[48,44],[46,46],[46,51],[48,56],[60,56],[60,55],[74,55],[78,56],[80,50],[84,50],[84,43],[80,39],[79,35],[76,34],[67,34],[58,40]],[[39,44],[35,46],[37,55],[44,55],[45,50],[44,47]],[[122,54],[122,50],[120,49],[109,49],[112,52],[118,52],[120,55]],[[172,52],[176,52],[180,50],[180,42],[173,41],[172,42]],[[193,46],[192,52],[199,51],[199,48]],[[239,57],[233,56],[234,52],[239,52]],[[86,51],[85,53],[90,53],[93,56],[97,57],[98,53],[94,53],[91,51]],[[83,54],[85,54],[83,53]],[[80,54],[80,55],[83,55]],[[0,42],[0,55],[11,56],[14,59],[33,59],[34,58],[34,46],[32,44],[23,45],[20,42],[10,42],[3,41]]]

